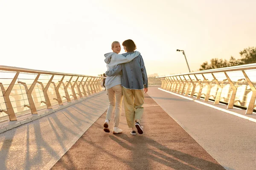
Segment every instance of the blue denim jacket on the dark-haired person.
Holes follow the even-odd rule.
[[[132,53],[134,52],[127,52],[122,55],[126,57]],[[148,88],[148,76],[141,55],[130,62],[116,65],[114,69],[106,71],[107,76],[115,76],[118,74],[122,74],[121,85],[124,88],[136,90]]]

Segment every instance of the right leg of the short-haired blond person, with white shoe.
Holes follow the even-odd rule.
[[[116,94],[116,112],[115,112],[115,119],[114,119],[114,127],[113,127],[113,133],[122,133],[122,129],[118,127],[120,117],[121,117],[121,112],[122,112],[122,86],[121,85],[116,85],[113,87],[113,91]]]

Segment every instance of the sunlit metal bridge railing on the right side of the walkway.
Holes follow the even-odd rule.
[[[252,114],[256,99],[256,63],[158,77],[161,88],[196,99],[204,98],[246,109]]]

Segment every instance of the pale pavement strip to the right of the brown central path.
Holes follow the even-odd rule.
[[[148,94],[223,167],[228,170],[256,169],[255,122],[157,88],[151,87]],[[232,110],[245,113],[243,110]]]

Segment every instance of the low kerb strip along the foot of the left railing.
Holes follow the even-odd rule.
[[[91,94],[91,96],[87,96],[86,98],[81,98],[81,100],[77,100],[77,101],[72,102],[72,103],[70,103],[70,104],[64,105],[64,106],[62,106],[62,107],[60,107],[60,108],[53,109],[52,111],[46,111],[46,112],[44,112],[44,113],[42,113],[42,114],[36,115],[36,116],[31,117],[31,118],[29,118],[29,119],[25,119],[25,120],[22,120],[22,121],[20,121],[20,122],[16,122],[15,124],[8,125],[8,126],[6,126],[6,127],[1,128],[1,129],[0,129],[0,133],[6,132],[7,130],[11,130],[11,129],[15,128],[15,127],[24,125],[24,124],[26,124],[26,123],[32,122],[32,121],[34,121],[34,120],[36,120],[36,119],[40,119],[40,118],[42,118],[42,117],[44,117],[44,116],[47,116],[47,115],[52,114],[52,113],[55,113],[56,111],[60,111],[61,109],[64,109],[64,108],[67,108],[67,107],[69,107],[69,106],[75,105],[75,104],[77,104],[77,103],[83,102],[84,100],[90,99],[90,98],[92,98],[92,97],[94,97],[94,96],[98,96],[99,94],[102,94],[102,93],[104,93],[104,92],[105,92],[105,91],[101,91],[101,92],[99,92],[99,93],[97,93],[97,94]],[[103,113],[102,113],[102,114],[103,114]]]

